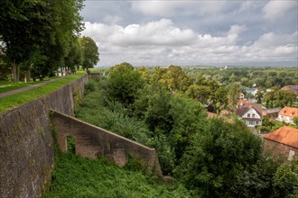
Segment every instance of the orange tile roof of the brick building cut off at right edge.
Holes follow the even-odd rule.
[[[281,127],[278,130],[265,134],[264,138],[298,148],[298,130],[292,127]]]

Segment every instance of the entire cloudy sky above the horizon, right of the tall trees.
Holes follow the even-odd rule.
[[[298,67],[298,1],[85,0],[97,67]]]

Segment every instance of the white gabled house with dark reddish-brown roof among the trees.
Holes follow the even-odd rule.
[[[239,106],[236,110],[237,115],[246,122],[247,127],[261,126],[263,120],[262,104],[247,103]]]

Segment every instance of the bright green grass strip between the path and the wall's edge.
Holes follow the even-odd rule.
[[[84,76],[85,74],[85,72],[77,72],[77,74],[75,75],[65,76],[60,80],[51,82],[46,85],[34,87],[33,89],[30,89],[28,91],[2,97],[0,98],[0,112],[5,112],[11,108],[14,108],[15,106],[21,105],[23,103],[28,103],[29,101],[37,99],[45,94],[50,94],[61,86],[66,85],[71,81],[79,78],[80,76]]]

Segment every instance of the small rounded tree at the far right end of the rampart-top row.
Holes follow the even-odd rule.
[[[83,51],[83,65],[82,67],[88,71],[89,68],[98,64],[99,53],[98,46],[90,37],[79,38],[79,45]]]

